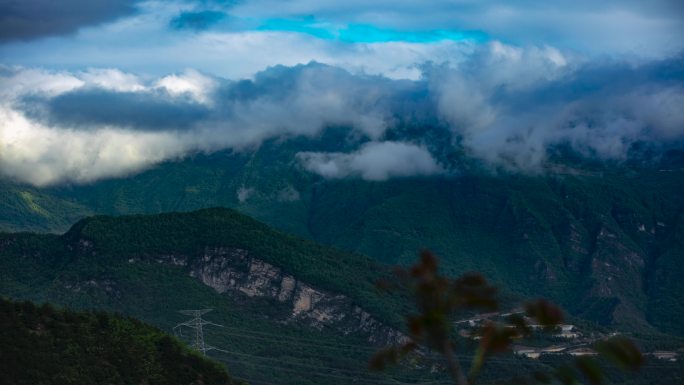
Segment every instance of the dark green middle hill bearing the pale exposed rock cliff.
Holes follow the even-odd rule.
[[[422,376],[366,370],[403,321],[400,299],[374,288],[387,271],[227,209],[92,217],[62,236],[0,236],[0,294],[113,310],[166,331],[187,321],[178,310],[212,308],[208,319],[224,327],[207,327],[205,338],[225,350],[212,356],[252,384]]]

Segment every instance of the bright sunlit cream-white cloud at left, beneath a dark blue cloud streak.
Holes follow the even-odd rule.
[[[0,107],[0,173],[36,186],[123,176],[186,150],[170,133],[56,129]]]

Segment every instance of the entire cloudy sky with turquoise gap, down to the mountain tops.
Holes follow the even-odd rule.
[[[375,180],[684,140],[680,1],[58,3],[0,3],[0,175],[35,185],[327,127],[293,161]]]

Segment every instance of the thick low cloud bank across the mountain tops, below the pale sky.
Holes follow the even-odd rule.
[[[634,143],[684,139],[682,58],[586,62],[492,42],[460,63],[420,68],[418,80],[393,80],[311,63],[237,81],[193,70],[149,78],[4,68],[0,172],[35,185],[84,183],[198,151],[315,138],[330,126],[348,127],[356,149],[297,159],[324,177],[371,180],[449,172],[432,139],[397,137],[406,124],[442,127],[468,156],[523,171],[539,170],[559,144],[624,159]]]

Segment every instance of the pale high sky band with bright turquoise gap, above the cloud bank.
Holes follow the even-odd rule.
[[[194,68],[230,79],[317,61],[416,80],[420,64],[457,63],[492,41],[587,57],[670,57],[684,50],[678,3],[147,0],[77,34],[0,44],[0,57],[25,67],[154,76]]]

